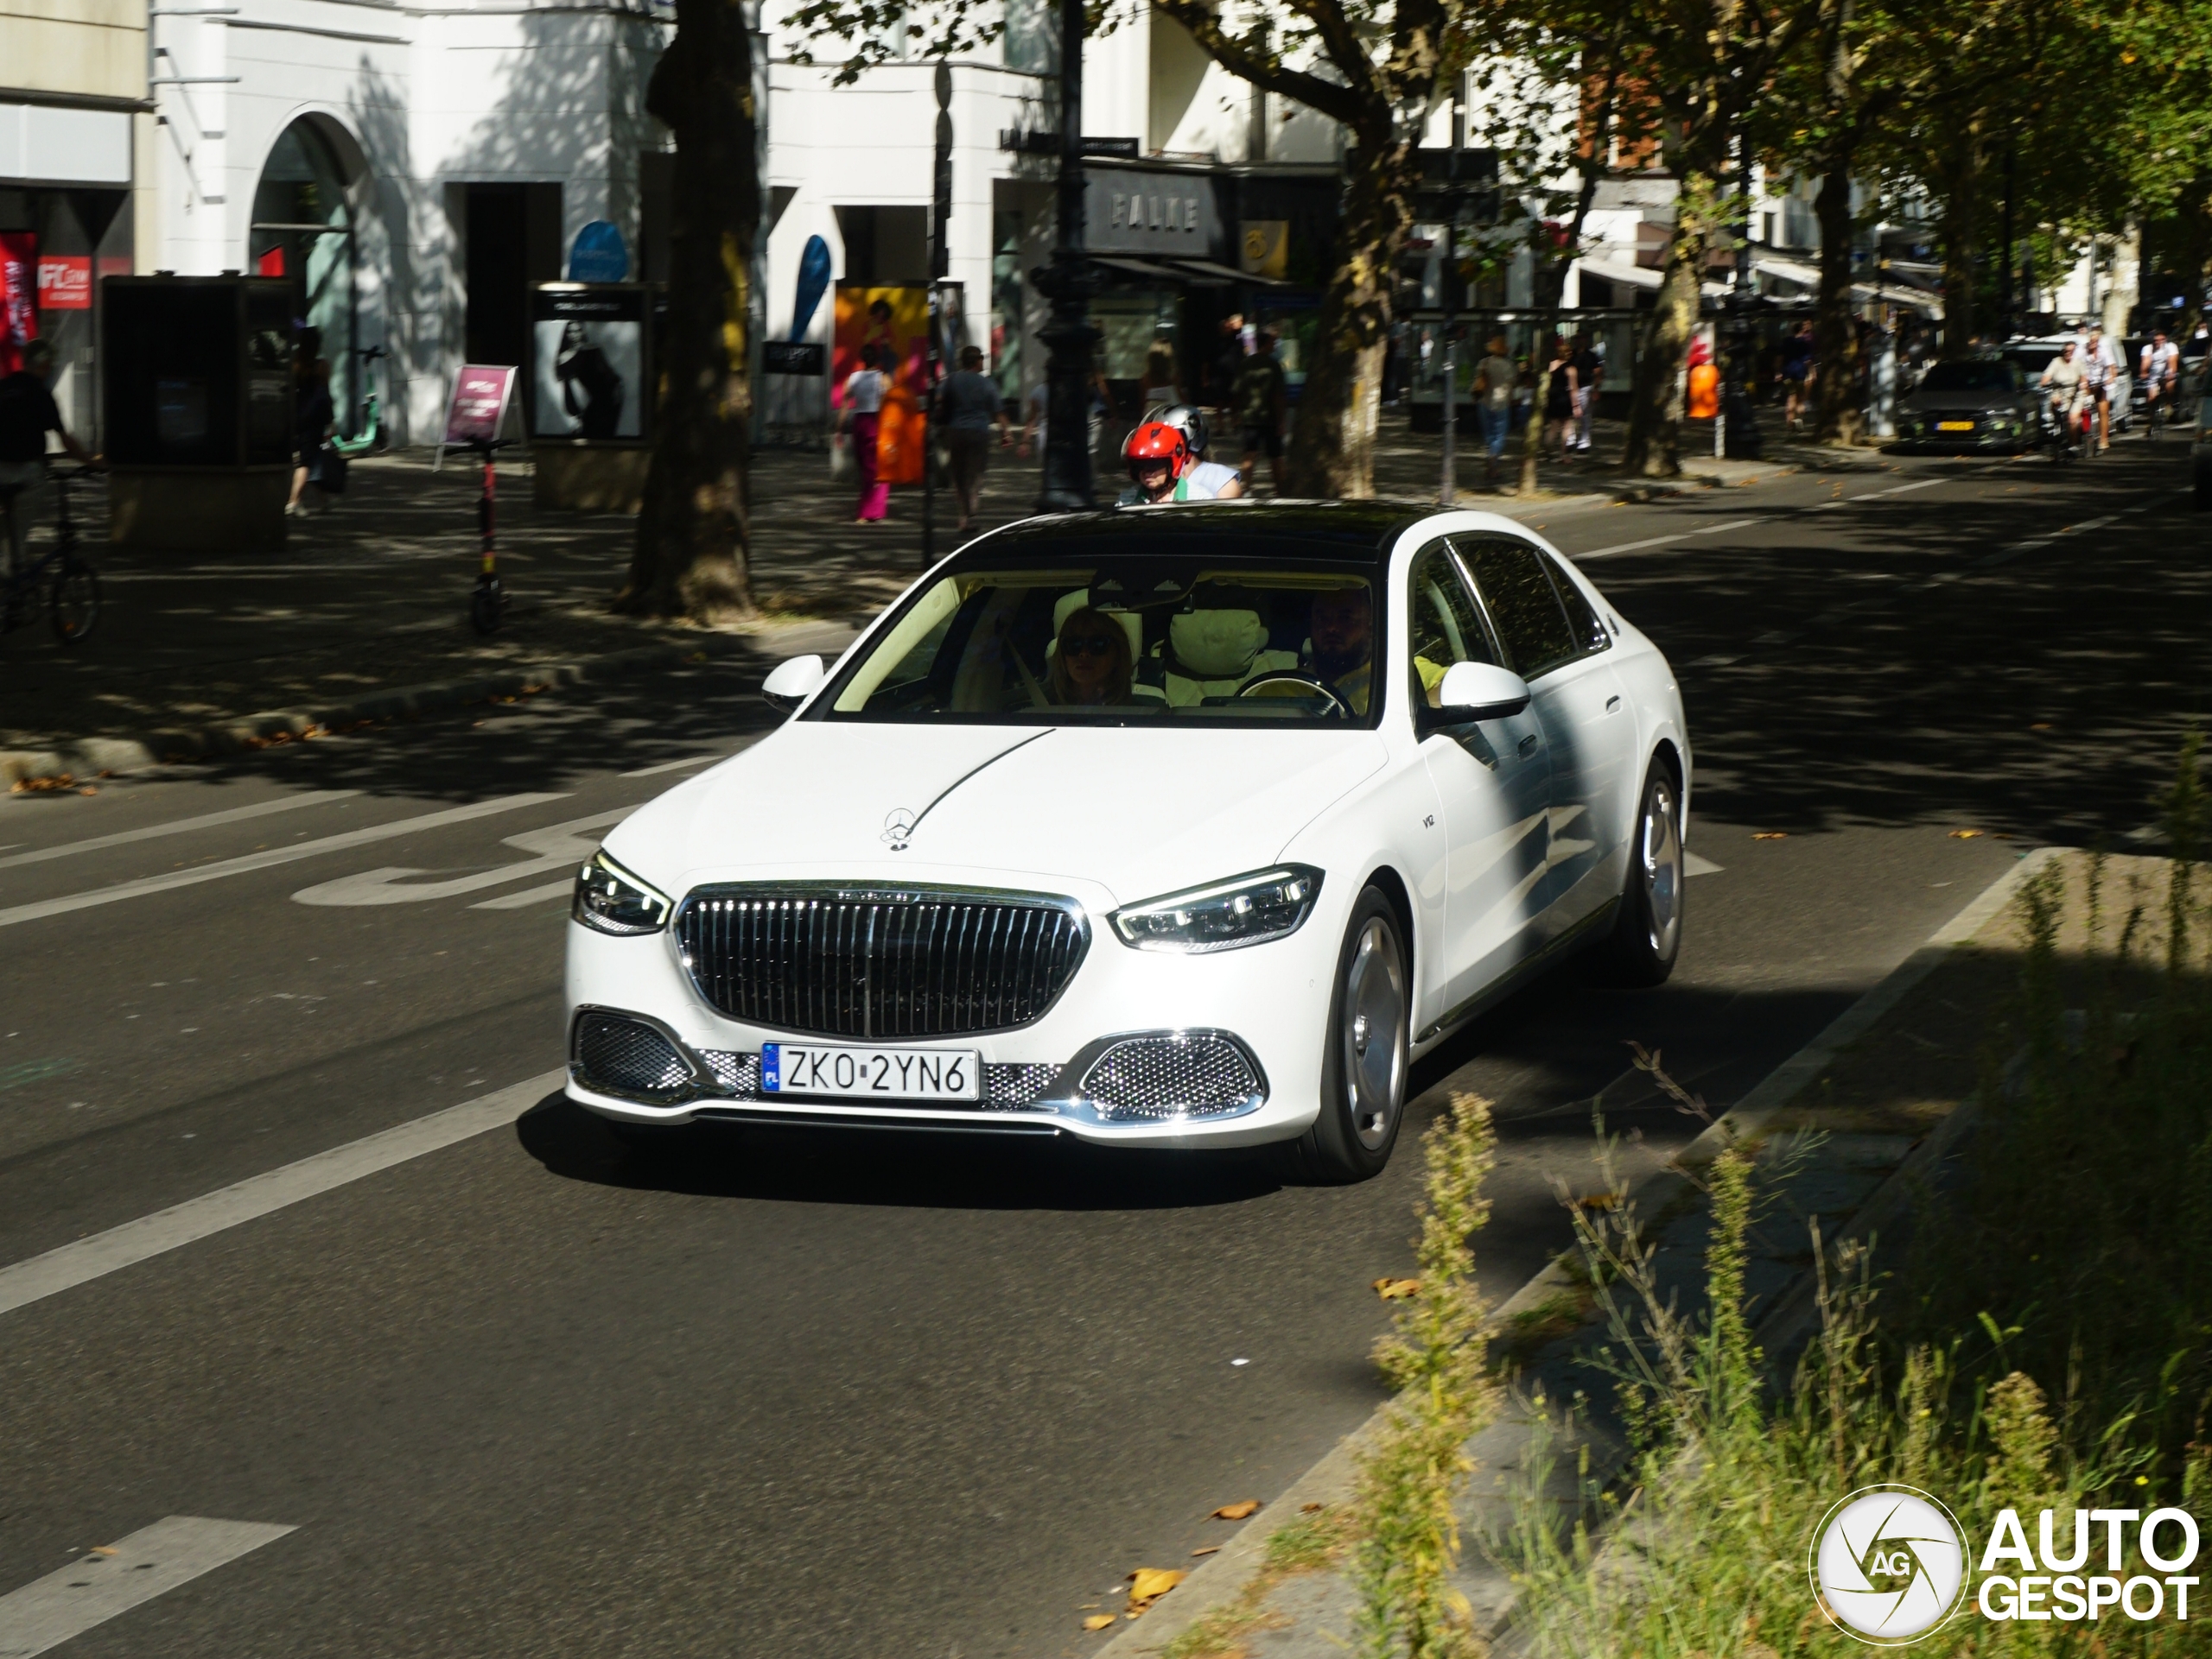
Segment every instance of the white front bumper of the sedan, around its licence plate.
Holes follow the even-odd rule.
[[[1060,1133],[1152,1148],[1292,1139],[1312,1126],[1321,1099],[1321,1033],[1343,929],[1329,898],[1340,896],[1325,889],[1323,907],[1290,938],[1243,951],[1172,956],[1097,938],[1062,995],[1026,1026],[883,1040],[975,1051],[978,1102],[765,1095],[763,1044],[869,1040],[732,1020],[699,995],[668,933],[611,938],[571,922],[568,1097],[628,1124]],[[666,1046],[639,1048],[635,1064],[595,1064],[584,1053],[595,1020],[639,1022]],[[639,1079],[655,1086],[624,1086]]]

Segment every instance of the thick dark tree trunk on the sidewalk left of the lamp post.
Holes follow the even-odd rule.
[[[677,139],[668,327],[637,546],[615,608],[734,622],[754,615],[745,347],[761,217],[752,35],[739,0],[677,0],[646,108]]]

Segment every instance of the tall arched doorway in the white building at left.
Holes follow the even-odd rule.
[[[312,117],[292,122],[270,150],[254,188],[252,268],[263,276],[299,283],[299,321],[321,332],[319,356],[330,361],[330,398],[338,431],[358,429],[358,365],[354,356],[354,212],[347,168],[330,135]]]

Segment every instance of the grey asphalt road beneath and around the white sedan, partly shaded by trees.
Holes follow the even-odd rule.
[[[1900,460],[1537,515],[1681,670],[1714,869],[1666,989],[1562,973],[1420,1068],[1498,1104],[1493,1294],[1564,1241],[1593,1095],[1635,1157],[1694,1133],[1626,1042],[1725,1108],[2015,854],[2143,841],[2212,684],[2183,484]],[[0,799],[0,1265],[555,1068],[575,854],[763,723],[710,664]],[[639,1161],[549,1095],[0,1314],[0,1597],[192,1515],[294,1531],[69,1655],[1082,1652],[1374,1409],[1416,1177]]]

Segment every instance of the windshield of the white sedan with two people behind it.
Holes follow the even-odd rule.
[[[931,582],[814,703],[816,719],[1048,726],[1374,726],[1374,564],[1099,557]]]

